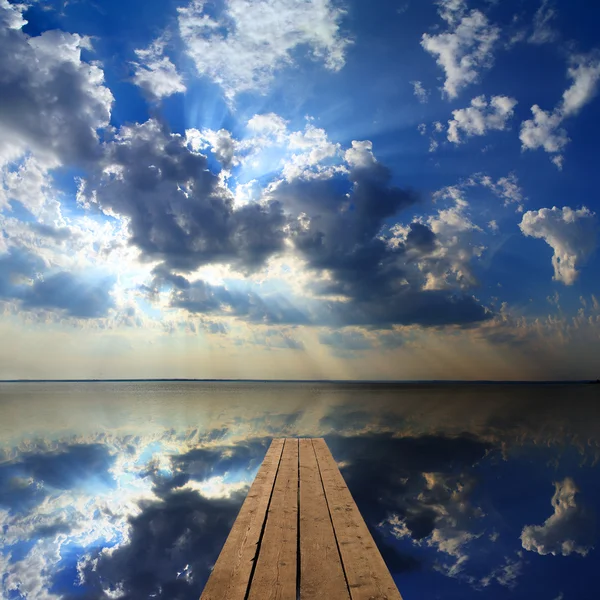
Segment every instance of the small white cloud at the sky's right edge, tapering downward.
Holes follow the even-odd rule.
[[[596,217],[585,206],[532,210],[523,215],[519,227],[526,236],[542,239],[554,250],[554,279],[565,285],[575,282],[577,267],[596,247]]]

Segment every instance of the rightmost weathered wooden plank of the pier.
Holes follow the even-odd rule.
[[[313,447],[352,600],[401,600],[325,440],[313,439]]]

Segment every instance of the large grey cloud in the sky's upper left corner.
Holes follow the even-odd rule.
[[[108,125],[113,98],[100,67],[81,61],[88,42],[62,31],[29,37],[8,3],[0,22],[0,152],[31,149],[75,164],[99,158],[96,130]]]

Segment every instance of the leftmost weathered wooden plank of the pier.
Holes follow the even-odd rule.
[[[246,597],[283,448],[283,439],[271,442],[200,600]]]

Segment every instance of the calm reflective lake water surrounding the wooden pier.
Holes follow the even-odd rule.
[[[597,598],[600,386],[0,384],[12,600],[197,600],[273,436],[324,436],[405,600]]]

